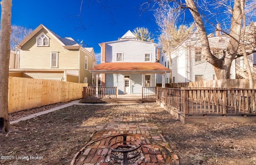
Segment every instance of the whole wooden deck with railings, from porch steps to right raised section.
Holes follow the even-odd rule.
[[[100,91],[100,92],[98,92]],[[157,102],[186,123],[256,123],[256,90],[142,87],[142,94],[116,94],[116,87],[84,87],[82,103]]]

